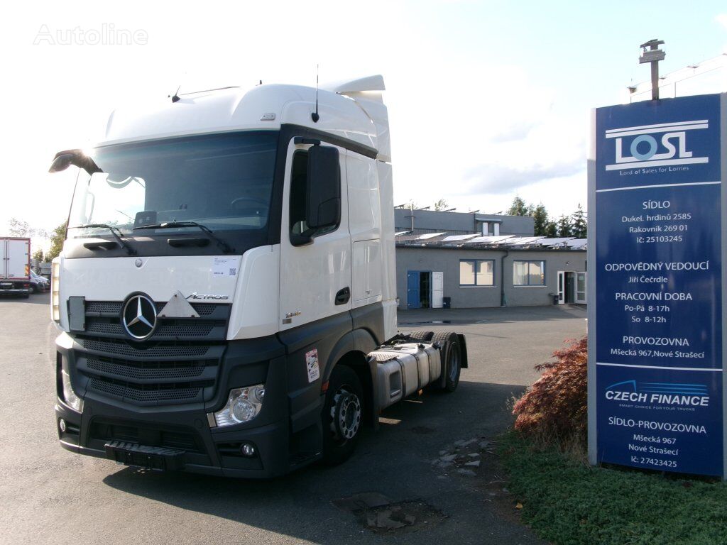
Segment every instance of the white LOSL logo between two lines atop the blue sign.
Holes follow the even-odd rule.
[[[606,170],[709,163],[709,157],[694,157],[686,144],[688,131],[709,126],[707,119],[701,119],[608,130],[606,138],[616,139],[616,162]]]

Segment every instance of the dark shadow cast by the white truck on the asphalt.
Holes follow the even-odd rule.
[[[398,541],[480,543],[486,528],[491,538],[487,542],[536,543],[528,530],[499,516],[497,508],[487,503],[486,494],[478,489],[477,475],[441,477],[432,465],[455,441],[491,438],[505,431],[513,421],[508,400],[523,389],[521,385],[460,382],[452,394],[425,393],[398,403],[382,413],[379,431],[366,430],[353,458],[338,467],[315,465],[262,481],[124,468],[103,482],[185,511],[319,544],[353,539],[380,542],[381,537],[364,529],[360,520],[332,504],[364,492],[392,501],[424,501],[443,513],[443,522],[402,534]],[[108,469],[113,470],[111,462]]]

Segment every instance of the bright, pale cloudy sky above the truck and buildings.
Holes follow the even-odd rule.
[[[662,73],[717,57],[727,5],[41,0],[0,29],[0,235],[11,218],[65,221],[75,176],[47,169],[100,140],[114,108],[178,87],[314,86],[316,66],[321,82],[384,76],[395,204],[494,214],[520,196],[558,217],[586,206],[590,109],[648,79],[639,45],[665,41]]]

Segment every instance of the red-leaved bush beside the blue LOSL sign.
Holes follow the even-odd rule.
[[[515,429],[546,440],[585,442],[588,339],[553,352],[555,361],[535,366],[542,376],[513,406]]]

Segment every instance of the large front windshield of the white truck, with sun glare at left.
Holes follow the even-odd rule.
[[[214,232],[265,230],[277,140],[276,132],[236,132],[97,148],[92,158],[102,172],[79,174],[68,236],[103,230],[78,228],[90,224],[124,235],[134,228],[153,234],[144,227],[172,222]]]

